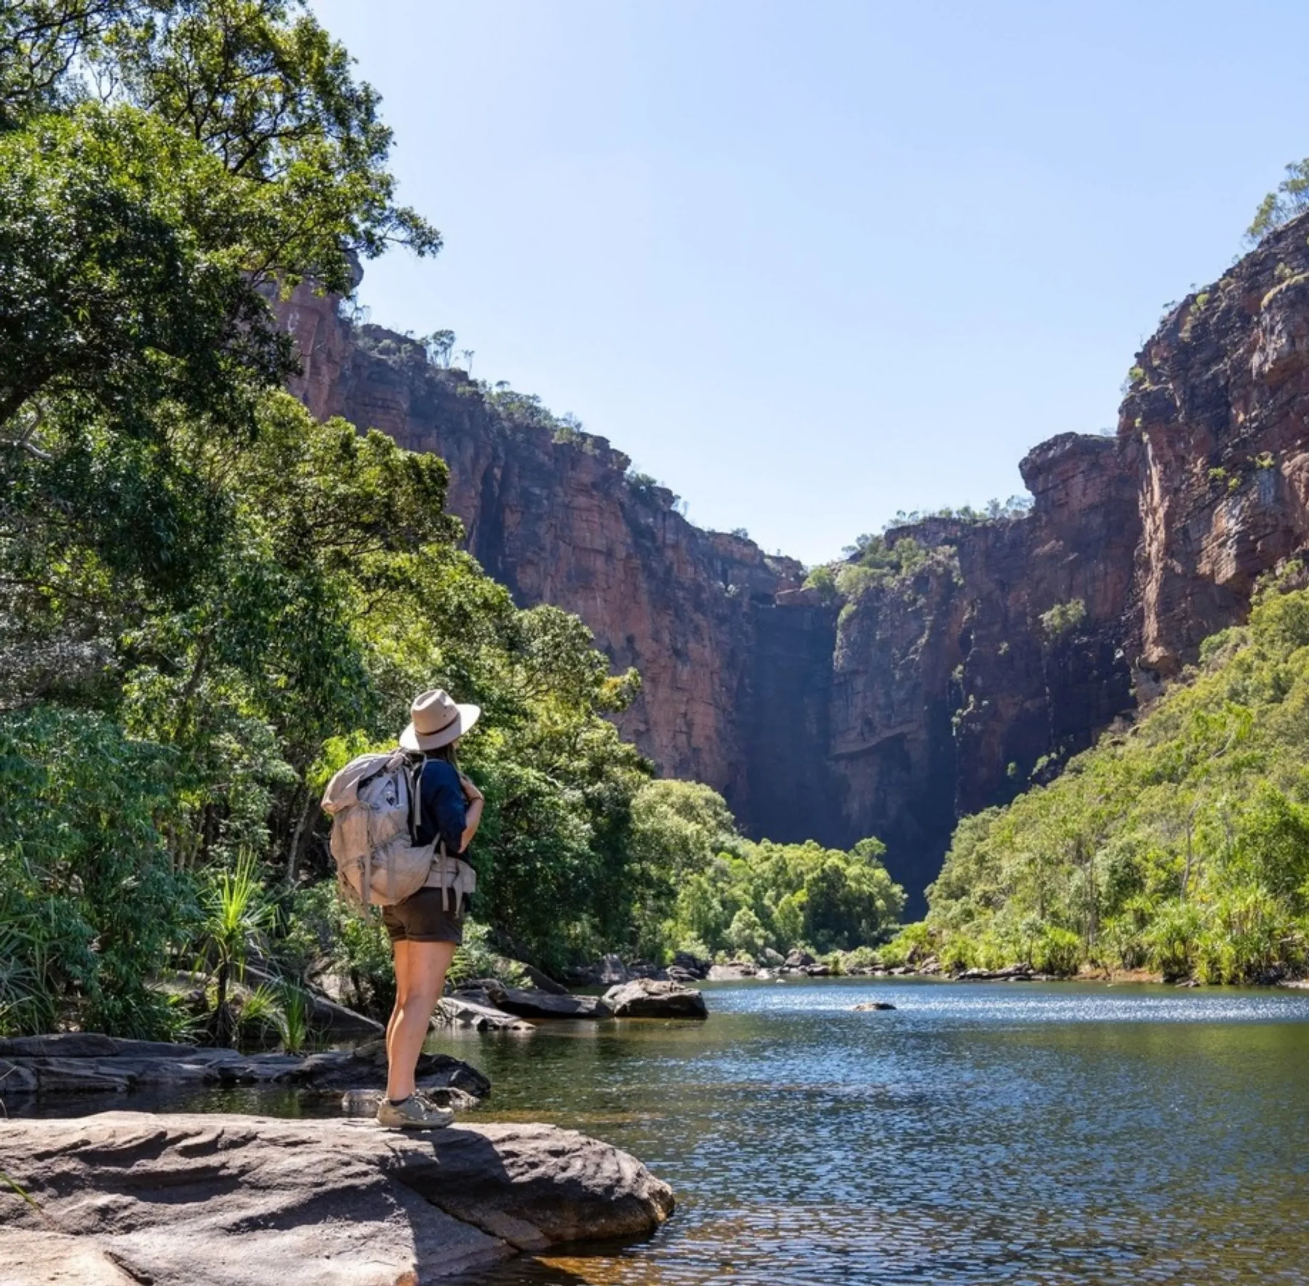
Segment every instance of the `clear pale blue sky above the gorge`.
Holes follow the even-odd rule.
[[[372,320],[449,327],[704,526],[808,563],[1115,423],[1309,155],[1289,3],[314,0],[384,96]]]

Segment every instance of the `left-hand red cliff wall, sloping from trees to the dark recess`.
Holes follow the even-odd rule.
[[[808,635],[768,627],[800,564],[692,526],[670,491],[630,479],[628,458],[603,437],[548,423],[530,401],[487,395],[404,337],[350,326],[331,299],[302,287],[283,310],[305,359],[292,392],[321,418],[442,456],[449,508],[487,572],[525,606],[577,613],[615,667],[640,671],[624,735],[661,771],[707,782],[750,816],[751,799],[774,791],[750,754],[767,722],[749,716],[755,694],[787,715],[805,706],[759,657],[809,676],[817,655]],[[814,737],[819,706],[804,711]]]

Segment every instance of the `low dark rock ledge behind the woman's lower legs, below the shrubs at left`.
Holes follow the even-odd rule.
[[[425,1090],[462,1090],[475,1099],[491,1092],[491,1082],[476,1067],[448,1054],[423,1054],[418,1074]],[[0,1040],[0,1099],[21,1093],[126,1093],[157,1086],[254,1084],[378,1088],[386,1084],[386,1050],[381,1041],[373,1041],[356,1050],[318,1054],[242,1054],[236,1049],[119,1040],[98,1032]]]

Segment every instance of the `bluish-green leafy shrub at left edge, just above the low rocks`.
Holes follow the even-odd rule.
[[[171,1028],[145,978],[196,915],[168,853],[175,770],[94,711],[0,719],[0,1029]]]

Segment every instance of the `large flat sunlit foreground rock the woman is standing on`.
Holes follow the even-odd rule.
[[[551,1125],[106,1112],[0,1121],[5,1286],[423,1286],[562,1241],[639,1238],[673,1192]]]

